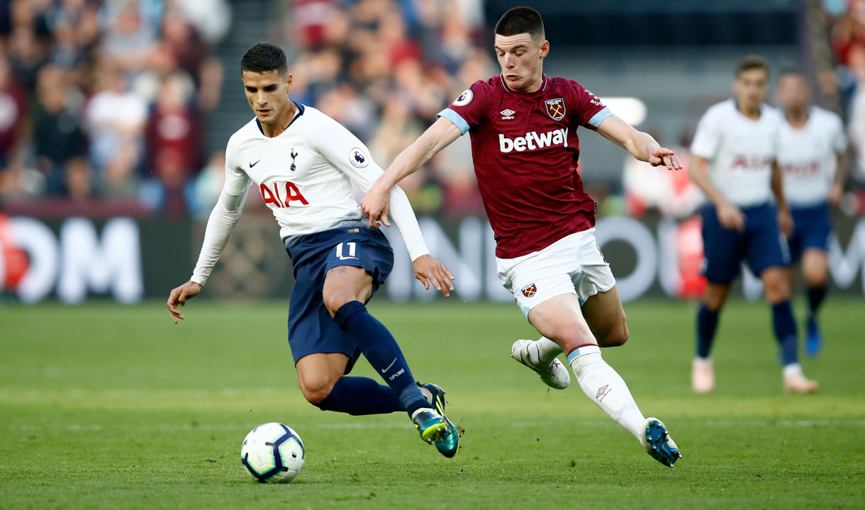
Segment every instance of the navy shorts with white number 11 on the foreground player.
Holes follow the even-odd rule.
[[[288,304],[288,344],[294,363],[309,354],[342,353],[349,356],[349,373],[361,351],[324,307],[324,276],[340,265],[362,267],[373,277],[375,293],[394,268],[388,239],[377,228],[335,228],[292,238],[285,249],[294,265]]]

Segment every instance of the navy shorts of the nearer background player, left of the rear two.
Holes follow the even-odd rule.
[[[773,266],[790,265],[790,251],[778,226],[777,209],[772,204],[742,207],[745,230],[724,228],[714,206],[702,211],[702,274],[713,284],[729,284],[739,276],[746,260],[754,276]]]

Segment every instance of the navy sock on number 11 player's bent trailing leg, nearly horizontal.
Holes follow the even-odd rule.
[[[368,377],[341,377],[330,394],[316,406],[322,411],[347,412],[355,416],[405,411],[396,392]]]

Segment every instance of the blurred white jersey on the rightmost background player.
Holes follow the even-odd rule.
[[[833,112],[811,106],[808,121],[800,129],[784,121],[778,163],[784,170],[784,196],[791,206],[813,206],[826,200],[837,156],[845,150],[844,124]]]

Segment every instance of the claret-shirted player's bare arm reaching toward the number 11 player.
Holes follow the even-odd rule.
[[[388,195],[391,188],[412,175],[424,166],[426,162],[439,153],[458,137],[462,131],[446,118],[435,121],[417,140],[409,145],[406,150],[396,156],[390,163],[384,174],[375,180],[373,187],[363,195],[361,211],[369,219],[369,226],[379,227],[381,223],[390,226],[388,221]],[[381,222],[381,223],[380,223]]]

